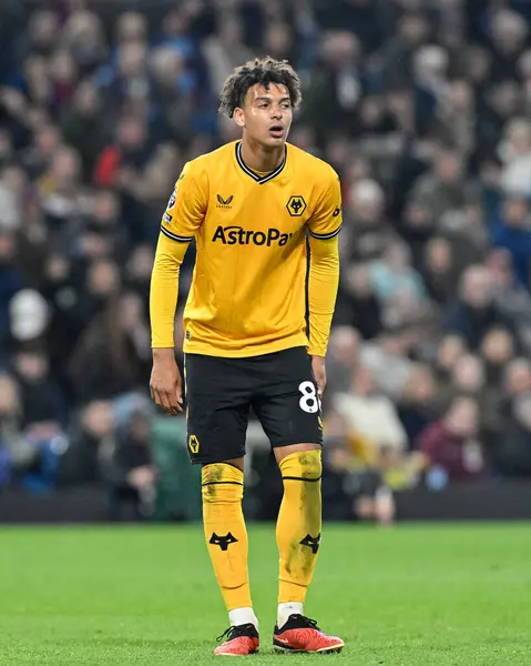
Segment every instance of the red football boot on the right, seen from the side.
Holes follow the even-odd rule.
[[[324,634],[315,619],[304,615],[290,615],[286,624],[275,625],[273,647],[282,653],[339,653],[345,643],[337,636]]]

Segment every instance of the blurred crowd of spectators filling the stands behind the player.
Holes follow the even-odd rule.
[[[525,0],[2,0],[0,488],[152,487],[161,212],[237,138],[217,92],[265,54],[303,80],[290,141],[344,190],[329,473],[360,515],[531,477],[530,30]]]

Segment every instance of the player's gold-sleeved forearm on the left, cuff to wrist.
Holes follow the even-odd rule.
[[[178,273],[187,244],[161,234],[151,275],[150,317],[153,354],[159,357],[174,349],[174,321],[178,295]]]

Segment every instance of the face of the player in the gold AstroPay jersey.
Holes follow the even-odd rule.
[[[234,111],[234,119],[249,139],[267,148],[283,145],[293,120],[288,89],[279,83],[253,85],[244,107]]]

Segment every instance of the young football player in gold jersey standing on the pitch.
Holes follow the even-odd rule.
[[[188,243],[197,259],[184,312],[187,445],[203,465],[205,537],[231,628],[217,655],[258,650],[242,513],[245,433],[254,408],[284,482],[277,522],[282,652],[339,652],[304,615],[320,542],[325,354],[339,276],[337,174],[287,144],[300,81],[282,61],[247,62],[228,77],[221,110],[242,141],[188,162],[163,215],[151,286],[153,400],[182,411],[174,359],[177,279]],[[309,239],[309,340],[306,239]]]

